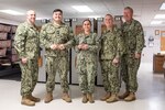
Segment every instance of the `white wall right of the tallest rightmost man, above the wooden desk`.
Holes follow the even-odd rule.
[[[143,28],[145,33],[145,45],[143,50],[142,63],[153,63],[153,54],[161,53],[161,32],[160,35],[155,35],[155,30],[165,31],[165,28]],[[148,45],[148,37],[153,36],[153,46]]]

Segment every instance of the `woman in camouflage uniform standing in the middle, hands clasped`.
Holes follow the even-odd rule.
[[[95,91],[99,42],[97,40],[97,34],[90,32],[90,20],[85,20],[82,28],[85,32],[75,37],[79,87],[82,92],[82,102],[86,103],[89,101],[90,103],[94,103],[92,94]]]

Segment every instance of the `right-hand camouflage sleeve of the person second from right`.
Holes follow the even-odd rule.
[[[121,33],[121,30],[118,30],[118,33],[117,33],[117,55],[116,55],[116,58],[120,58],[123,55],[124,51],[125,51],[125,46],[124,46],[122,33]]]

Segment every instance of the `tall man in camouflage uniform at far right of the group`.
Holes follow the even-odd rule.
[[[125,19],[122,25],[125,54],[122,57],[121,73],[127,91],[119,96],[119,98],[132,101],[135,100],[135,92],[138,90],[136,75],[141,63],[141,53],[144,47],[144,33],[141,23],[132,18],[132,8],[124,8],[123,16]]]

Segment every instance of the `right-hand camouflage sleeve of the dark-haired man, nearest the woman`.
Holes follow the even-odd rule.
[[[75,45],[75,40],[74,40],[74,33],[70,30],[70,28],[68,28],[68,42],[65,43],[65,47],[66,48],[70,48]]]

